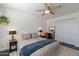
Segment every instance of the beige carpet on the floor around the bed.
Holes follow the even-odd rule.
[[[12,52],[10,56],[18,56],[18,52]],[[79,50],[60,46],[56,56],[79,56]]]

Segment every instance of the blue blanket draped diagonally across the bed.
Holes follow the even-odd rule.
[[[38,41],[29,45],[24,46],[21,50],[20,50],[20,56],[29,56],[31,55],[33,52],[35,52],[36,50],[52,43],[55,42],[55,40],[49,39],[49,40],[42,40],[42,41]]]

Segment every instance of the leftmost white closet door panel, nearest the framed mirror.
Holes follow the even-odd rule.
[[[56,22],[55,39],[57,41],[64,42],[64,40],[63,40],[63,21]]]

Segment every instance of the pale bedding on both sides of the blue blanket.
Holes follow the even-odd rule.
[[[22,40],[21,42],[19,42],[19,51],[23,46],[37,42],[37,41],[41,41],[41,40],[46,40],[46,39],[44,39],[44,38],[38,38],[37,39],[36,38],[36,39]],[[51,55],[55,55],[58,48],[59,48],[59,43],[54,42],[54,43],[48,44],[47,46],[40,48],[39,50],[35,51],[34,53],[31,54],[31,56],[51,56]]]

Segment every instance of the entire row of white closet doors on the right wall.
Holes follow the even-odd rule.
[[[56,40],[79,47],[79,19],[56,22]]]

